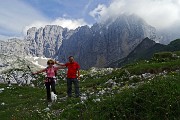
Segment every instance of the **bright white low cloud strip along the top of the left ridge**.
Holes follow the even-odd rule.
[[[46,25],[58,25],[58,26],[61,26],[63,28],[76,29],[77,27],[80,27],[83,25],[88,25],[88,24],[83,19],[58,18],[56,20],[49,21],[49,22],[47,22],[47,21],[34,22],[34,23],[26,26],[23,31],[24,31],[24,33],[26,33],[26,31],[31,27],[40,28],[40,27],[45,27]]]

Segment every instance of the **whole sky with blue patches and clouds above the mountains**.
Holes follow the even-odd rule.
[[[30,27],[75,29],[121,14],[137,14],[157,29],[180,25],[180,0],[0,0],[0,39]]]

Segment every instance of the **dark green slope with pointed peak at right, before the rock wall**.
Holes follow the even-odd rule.
[[[111,63],[108,67],[120,67],[137,60],[150,59],[156,52],[173,52],[178,50],[180,50],[180,39],[174,40],[168,45],[163,45],[145,38],[127,57]]]

